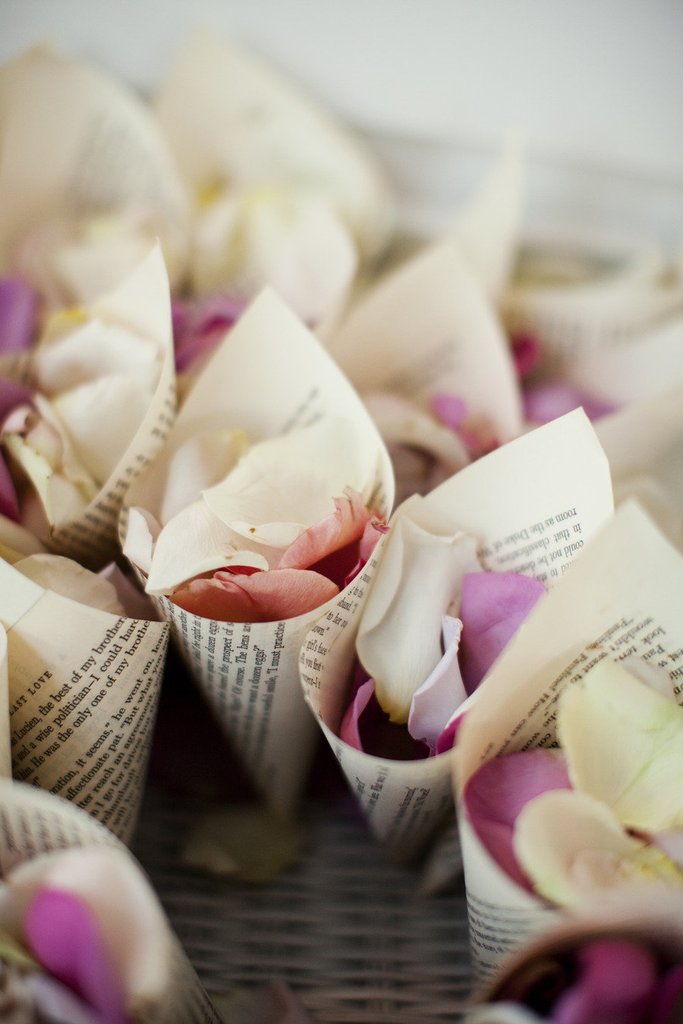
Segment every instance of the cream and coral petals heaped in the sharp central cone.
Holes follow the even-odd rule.
[[[196,456],[197,439],[189,443]],[[181,446],[176,468],[186,458]],[[165,525],[132,508],[124,552],[147,593],[195,614],[248,623],[303,614],[353,579],[386,529],[364,497],[371,462],[343,419],[261,441],[199,500],[181,500]]]

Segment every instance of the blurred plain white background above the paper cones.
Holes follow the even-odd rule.
[[[197,26],[365,133],[415,225],[520,130],[528,220],[683,241],[683,0],[0,0],[0,58],[51,39],[151,92]]]

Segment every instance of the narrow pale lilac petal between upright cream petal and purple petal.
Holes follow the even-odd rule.
[[[443,616],[443,654],[411,701],[408,731],[431,750],[435,749],[446,723],[467,697],[458,665],[461,629],[458,618]]]

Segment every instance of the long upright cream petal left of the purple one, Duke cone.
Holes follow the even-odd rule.
[[[410,509],[410,511],[408,511]],[[441,658],[441,621],[464,572],[478,567],[474,540],[439,531],[420,498],[403,505],[362,615],[356,649],[393,722],[407,722],[415,691]]]

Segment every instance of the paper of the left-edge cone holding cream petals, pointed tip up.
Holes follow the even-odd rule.
[[[123,497],[136,474],[161,447],[175,415],[169,287],[158,245],[118,289],[92,304],[87,318],[95,329],[103,330],[104,326],[111,326],[114,330],[126,332],[130,335],[130,340],[139,338],[140,342],[154,346],[157,364],[154,370],[157,383],[151,389],[151,401],[132,439],[128,442],[125,440],[132,431],[130,422],[121,417],[120,410],[117,411],[116,420],[112,418],[111,422],[98,424],[102,434],[103,428],[109,428],[108,447],[116,444],[118,433],[125,433],[122,434],[124,440],[121,455],[115,459],[114,468],[109,472],[108,478],[100,482],[94,497],[87,504],[84,500],[82,510],[72,518],[60,508],[57,490],[46,492],[43,500],[49,523],[49,532],[42,538],[45,545],[53,552],[97,569],[118,555],[118,520]],[[38,360],[40,357],[41,353],[38,352],[35,358]],[[77,373],[76,370],[74,372]],[[31,376],[33,373],[30,370]],[[105,376],[101,379],[106,380],[106,372],[102,373]],[[91,415],[90,411],[88,415]],[[6,437],[5,441],[7,442]],[[40,482],[41,479],[41,474],[37,471],[36,480]],[[45,486],[50,485],[48,478]],[[0,518],[0,540],[9,547],[29,553],[24,538],[18,536],[20,528],[4,517]]]

